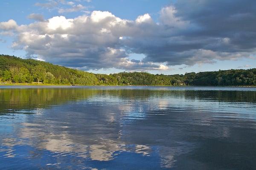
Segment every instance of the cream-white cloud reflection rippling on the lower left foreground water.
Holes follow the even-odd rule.
[[[22,125],[19,134],[20,138],[29,138],[29,143],[26,144],[40,150],[58,153],[59,156],[76,154],[78,157],[91,160],[109,161],[113,159],[114,152],[125,150],[125,144],[117,144],[116,141],[100,136],[93,138],[93,142],[87,145],[83,141],[74,141],[78,136],[73,134],[48,131],[49,129],[45,130],[40,124],[23,123]],[[68,127],[62,128],[68,129]]]

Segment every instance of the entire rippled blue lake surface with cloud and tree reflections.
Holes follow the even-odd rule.
[[[0,86],[0,169],[256,168],[256,88]]]

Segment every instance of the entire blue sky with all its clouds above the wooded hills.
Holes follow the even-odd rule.
[[[1,0],[0,53],[94,73],[256,67],[254,0]]]

